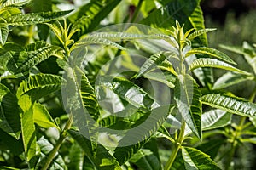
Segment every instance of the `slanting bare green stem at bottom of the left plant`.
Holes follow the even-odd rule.
[[[73,116],[71,115],[66,123],[66,126],[64,127],[64,129],[61,133],[60,138],[57,140],[55,147],[53,148],[53,150],[51,150],[49,152],[49,156],[47,157],[47,160],[44,164],[44,167],[42,167],[42,170],[47,170],[51,161],[55,158],[55,155],[58,152],[58,150],[60,149],[62,142],[67,137],[67,130],[71,127],[72,122],[73,122]]]

